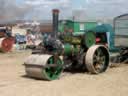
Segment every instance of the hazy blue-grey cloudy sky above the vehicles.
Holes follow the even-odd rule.
[[[60,18],[83,10],[86,18],[113,18],[128,13],[127,0],[0,0],[2,20],[50,19],[51,9],[60,9]]]

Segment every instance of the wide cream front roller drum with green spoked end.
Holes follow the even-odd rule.
[[[55,62],[56,65],[54,64]],[[55,80],[63,71],[63,61],[60,57],[55,61],[52,55],[31,55],[26,59],[24,64],[27,76],[37,79]]]

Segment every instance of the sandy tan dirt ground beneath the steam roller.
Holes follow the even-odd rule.
[[[0,96],[128,96],[128,66],[105,73],[63,73],[54,81],[25,77],[24,59],[30,51],[0,54]]]

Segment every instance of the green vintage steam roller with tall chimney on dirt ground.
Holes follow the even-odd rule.
[[[109,52],[102,38],[95,32],[58,34],[58,13],[53,10],[53,34],[44,37],[40,49],[34,49],[26,58],[26,75],[32,78],[55,80],[68,71],[105,72],[109,67]]]

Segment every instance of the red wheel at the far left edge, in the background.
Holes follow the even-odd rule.
[[[3,52],[11,51],[13,44],[14,44],[14,38],[13,37],[4,38],[1,42],[2,51]]]

